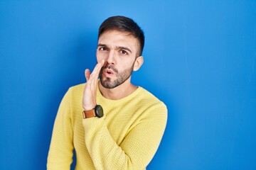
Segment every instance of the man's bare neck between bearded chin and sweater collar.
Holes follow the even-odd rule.
[[[134,84],[131,83],[131,77],[127,79],[127,81],[124,81],[124,83],[120,84],[119,86],[113,88],[113,89],[107,89],[99,81],[99,89],[105,98],[111,99],[111,100],[119,100],[121,98],[124,98],[126,96],[129,96],[129,94],[132,94],[137,89],[137,86],[134,86]]]

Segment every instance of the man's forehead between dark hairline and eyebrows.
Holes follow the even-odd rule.
[[[110,47],[122,46],[128,47],[132,52],[139,50],[139,42],[133,35],[119,30],[108,30],[100,35],[98,44],[104,44]]]

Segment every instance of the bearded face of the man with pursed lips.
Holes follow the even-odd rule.
[[[110,30],[98,40],[97,62],[105,60],[100,70],[100,82],[107,89],[113,89],[130,78],[139,44],[136,38],[118,30]]]

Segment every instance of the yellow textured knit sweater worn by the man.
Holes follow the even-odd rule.
[[[71,87],[60,103],[48,153],[48,170],[146,169],[164,134],[167,109],[139,87],[129,96],[110,100],[97,89],[102,118],[82,118],[85,84]]]

